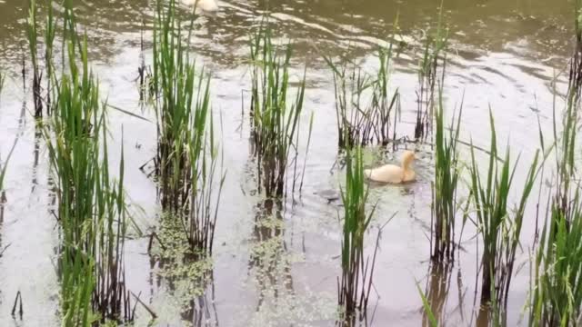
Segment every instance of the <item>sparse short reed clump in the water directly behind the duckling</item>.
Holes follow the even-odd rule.
[[[378,49],[376,75],[362,72],[360,67],[348,60],[336,64],[324,56],[334,74],[337,144],[340,149],[357,145],[386,145],[396,138],[396,114],[400,102],[397,90],[390,94],[392,56],[392,43]],[[391,124],[392,118],[394,124]]]

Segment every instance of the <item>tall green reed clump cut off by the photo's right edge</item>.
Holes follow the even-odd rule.
[[[582,200],[575,167],[579,102],[582,86],[582,29],[576,1],[576,45],[570,74],[562,131],[556,141],[556,186],[550,193],[546,222],[532,262],[529,299],[530,326],[575,326],[582,317]]]

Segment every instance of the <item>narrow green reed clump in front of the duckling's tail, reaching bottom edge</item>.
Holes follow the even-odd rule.
[[[366,307],[374,277],[376,250],[370,260],[364,253],[365,235],[375,209],[366,213],[369,189],[365,183],[362,150],[357,147],[346,156],[346,186],[341,190],[344,203],[342,239],[342,276],[337,281],[342,321],[352,322],[356,314],[366,316]],[[378,235],[379,236],[379,235]]]

